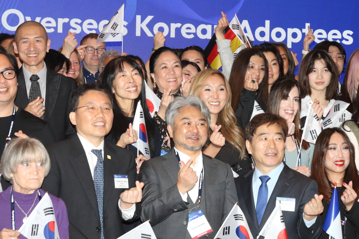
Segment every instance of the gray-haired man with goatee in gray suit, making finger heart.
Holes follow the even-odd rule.
[[[197,96],[176,97],[165,120],[174,148],[141,166],[141,219],[150,219],[157,238],[214,238],[237,196],[229,165],[201,152],[209,109]]]

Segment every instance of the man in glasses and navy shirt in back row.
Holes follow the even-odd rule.
[[[88,84],[97,81],[99,74],[98,60],[101,54],[106,51],[104,42],[96,44],[97,37],[97,33],[90,33],[85,35],[80,41],[80,45],[86,46],[84,49],[85,58],[83,59],[84,66],[82,71],[84,72],[85,83]]]

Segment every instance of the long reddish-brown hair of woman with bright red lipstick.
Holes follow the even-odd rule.
[[[355,166],[354,145],[350,142],[348,135],[346,135],[344,131],[339,128],[327,128],[324,129],[319,134],[316,144],[314,146],[311,178],[317,181],[318,192],[322,194],[324,196],[323,199],[329,203],[333,194],[331,185],[334,185],[334,182],[331,182],[329,180],[327,172],[325,170],[325,158],[326,158],[330,138],[334,133],[339,133],[341,137],[343,137],[345,143],[348,144],[349,152],[350,152],[349,164],[348,167],[345,169],[343,182],[348,184],[350,181],[353,181],[353,189],[358,194],[356,198],[356,200],[358,200],[359,175],[358,175],[358,170],[356,169]]]

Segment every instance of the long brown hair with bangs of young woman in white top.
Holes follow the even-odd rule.
[[[300,92],[302,95],[302,99],[307,95],[312,94],[311,86],[309,85],[309,77],[308,75],[313,71],[314,63],[316,61],[323,61],[325,66],[328,68],[328,71],[332,73],[332,77],[330,78],[330,83],[327,86],[325,92],[325,99],[331,100],[337,96],[338,89],[338,69],[333,61],[333,59],[329,56],[326,51],[323,50],[313,50],[310,51],[306,57],[300,63],[299,70],[299,86]]]

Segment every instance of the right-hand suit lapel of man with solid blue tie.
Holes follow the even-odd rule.
[[[277,196],[283,196],[292,187],[294,182],[290,182],[290,178],[294,177],[293,172],[290,170],[286,164],[284,164],[284,168],[278,177],[278,181],[274,186],[273,192],[268,200],[266,210],[264,211],[263,218],[261,221],[261,225],[259,229],[261,230],[272,211],[275,208]]]

